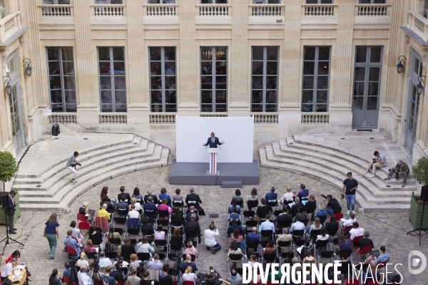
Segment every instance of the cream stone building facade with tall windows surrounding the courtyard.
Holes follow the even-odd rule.
[[[14,154],[54,123],[174,140],[175,116],[185,115],[253,116],[260,143],[387,131],[414,161],[427,155],[427,0],[1,0],[0,8],[0,145]]]

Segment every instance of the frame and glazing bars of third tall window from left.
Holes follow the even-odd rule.
[[[152,61],[151,60],[151,52],[150,52],[150,48],[161,48],[161,61]],[[175,60],[174,61],[165,61],[165,48],[175,48]],[[156,90],[156,89],[152,89],[152,83],[151,83],[151,78],[152,78],[152,74],[151,74],[151,63],[152,62],[160,62],[161,63],[161,94],[162,94],[162,103],[158,104],[156,103],[156,105],[161,105],[162,110],[161,112],[156,112],[152,110],[152,91]],[[165,99],[166,99],[166,91],[167,90],[173,90],[173,89],[166,89],[165,88],[165,76],[167,76],[165,74],[165,62],[169,63],[169,62],[173,62],[175,63],[175,104],[171,104],[171,103],[165,103]],[[148,84],[148,88],[149,88],[149,93],[150,93],[150,111],[151,113],[177,113],[177,47],[176,46],[149,46],[148,47],[148,74],[149,74],[149,84]],[[168,76],[167,76],[168,77]],[[167,105],[175,105],[175,111],[166,111],[166,106]]]

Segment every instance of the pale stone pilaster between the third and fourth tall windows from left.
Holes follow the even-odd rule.
[[[195,5],[198,0],[180,1],[180,46],[178,47],[178,113],[198,116],[200,110],[200,52],[196,46]]]

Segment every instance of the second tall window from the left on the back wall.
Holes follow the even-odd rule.
[[[126,112],[125,48],[98,47],[101,112]]]

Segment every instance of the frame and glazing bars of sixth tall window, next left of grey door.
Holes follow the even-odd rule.
[[[309,48],[309,47],[313,47],[315,48],[315,58],[314,60],[305,60],[305,48]],[[325,108],[325,112],[320,112],[317,111],[317,91],[318,89],[318,64],[320,62],[320,48],[329,48],[329,57],[328,57],[328,74],[327,74],[327,89],[320,89],[320,90],[327,90],[327,99],[326,99],[326,108]],[[303,61],[302,61],[302,95],[301,95],[301,103],[300,103],[300,110],[302,113],[328,113],[329,112],[329,101],[330,101],[330,71],[331,71],[331,61],[332,61],[332,46],[303,46]],[[313,75],[312,74],[305,74],[305,61],[307,62],[313,62],[314,63],[314,71],[313,71]],[[321,61],[327,61],[327,60],[321,60]],[[305,82],[305,76],[313,76],[313,87],[312,89],[305,89],[304,88],[304,82]],[[325,75],[322,75],[325,76]],[[305,90],[312,90],[312,110],[311,111],[304,111],[303,110],[303,104],[305,104],[303,102],[303,93]],[[320,105],[323,105],[324,103],[320,103]]]

